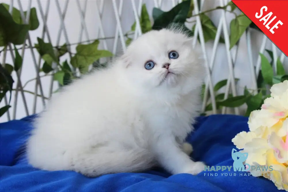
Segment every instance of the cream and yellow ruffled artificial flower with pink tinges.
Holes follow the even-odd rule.
[[[248,153],[247,164],[260,167],[249,170],[254,177],[263,176],[288,191],[288,80],[274,84],[270,91],[261,109],[251,112],[250,131],[238,133],[232,142]]]

